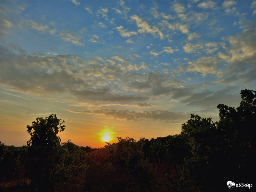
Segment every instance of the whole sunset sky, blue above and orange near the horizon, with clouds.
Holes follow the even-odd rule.
[[[255,90],[256,1],[0,2],[0,141],[56,114],[79,146],[179,134]]]

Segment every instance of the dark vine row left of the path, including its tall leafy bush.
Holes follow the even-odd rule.
[[[12,185],[29,191],[80,190],[89,155],[71,140],[60,144],[57,133],[64,131],[63,123],[55,114],[37,117],[32,126],[27,126],[31,136],[28,146],[15,148],[0,143],[2,186],[12,181]]]

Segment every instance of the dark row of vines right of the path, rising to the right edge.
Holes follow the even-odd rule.
[[[236,109],[219,104],[218,122],[191,114],[182,124],[181,134],[139,141],[117,137],[119,142],[107,143],[91,157],[128,172],[135,182],[154,178],[154,183],[143,184],[152,191],[156,186],[161,191],[220,191],[221,182],[227,180],[252,181],[250,170],[256,168],[255,93],[242,90]],[[168,180],[169,184],[164,188],[156,182],[157,176],[160,183]]]

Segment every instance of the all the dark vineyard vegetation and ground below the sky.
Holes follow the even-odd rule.
[[[218,122],[191,114],[180,134],[117,137],[99,149],[60,144],[64,121],[38,117],[27,126],[28,146],[0,143],[0,191],[224,191],[229,180],[254,185],[255,94],[242,90],[237,108],[219,104]]]

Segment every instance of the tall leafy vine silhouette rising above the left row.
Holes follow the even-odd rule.
[[[37,117],[32,126],[27,125],[27,132],[31,136],[27,142],[29,160],[27,168],[32,179],[32,190],[49,191],[51,173],[61,161],[63,148],[60,146],[59,130],[64,131],[64,120],[61,121],[55,114],[49,117]]]

